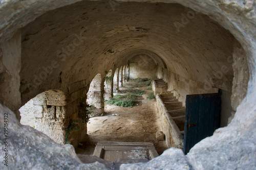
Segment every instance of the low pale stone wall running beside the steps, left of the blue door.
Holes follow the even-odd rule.
[[[183,136],[180,134],[179,128],[174,120],[167,112],[159,94],[156,95],[158,115],[161,119],[162,131],[165,134],[165,142],[168,148],[183,149]]]

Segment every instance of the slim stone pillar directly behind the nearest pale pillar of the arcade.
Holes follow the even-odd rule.
[[[113,98],[113,72],[110,70],[104,81],[104,99],[110,100]]]

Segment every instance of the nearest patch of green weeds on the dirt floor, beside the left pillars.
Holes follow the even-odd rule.
[[[133,107],[137,106],[137,98],[138,96],[132,93],[126,93],[123,95],[117,94],[113,99],[105,100],[105,102],[116,106]]]

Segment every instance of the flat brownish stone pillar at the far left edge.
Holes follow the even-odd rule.
[[[22,104],[19,92],[19,71],[22,65],[21,42],[19,30],[10,40],[0,43],[0,102],[11,109],[18,120],[20,120],[18,109]]]

